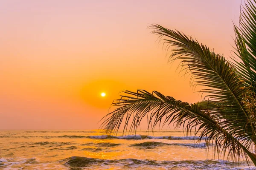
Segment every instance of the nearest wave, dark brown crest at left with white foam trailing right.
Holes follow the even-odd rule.
[[[71,169],[87,167],[90,169],[96,169],[96,167],[128,167],[128,168],[166,168],[166,169],[212,169],[212,170],[249,170],[246,167],[236,167],[230,161],[214,161],[214,160],[185,160],[185,161],[156,161],[148,159],[95,159],[87,157],[72,156],[66,159],[60,160],[63,164]],[[242,162],[240,165],[246,166],[246,162]],[[253,168],[254,170],[256,168]]]

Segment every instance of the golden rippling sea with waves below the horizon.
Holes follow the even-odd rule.
[[[0,130],[0,170],[256,170],[182,131]]]

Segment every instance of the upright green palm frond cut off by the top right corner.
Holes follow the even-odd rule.
[[[256,1],[254,0],[254,3]],[[241,6],[239,26],[234,25],[236,34],[236,54],[241,61],[235,60],[241,76],[256,92],[256,6],[246,0]]]

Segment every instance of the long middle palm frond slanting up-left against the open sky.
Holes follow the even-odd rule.
[[[222,102],[226,106],[218,111],[223,126],[235,136],[250,137],[251,142],[256,143],[255,125],[248,122],[248,108],[245,105],[250,91],[236,68],[223,56],[215,54],[207,46],[200,45],[198,41],[179,31],[160,25],[153,25],[151,28],[167,45],[174,47],[170,59],[183,63],[195,79],[195,85],[204,87],[201,92],[206,92],[211,100]]]

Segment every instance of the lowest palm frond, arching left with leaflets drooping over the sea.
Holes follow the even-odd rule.
[[[138,90],[137,93],[124,91],[122,98],[115,100],[113,106],[117,108],[105,116],[102,127],[105,133],[111,134],[119,130],[124,120],[123,132],[136,131],[144,117],[148,119],[148,128],[154,129],[157,125],[176,124],[182,126],[187,134],[195,130],[195,135],[200,133],[199,142],[205,139],[207,148],[209,143],[214,143],[216,156],[221,153],[227,154],[228,158],[238,161],[241,156],[247,155],[256,163],[256,157],[247,147],[227,130],[221,127],[215,113],[209,112],[210,108],[219,107],[211,101],[202,101],[189,104],[175,100],[173,97],[164,96],[157,91],[149,93],[145,90]],[[211,105],[207,106],[206,105]],[[206,109],[207,108],[207,109]],[[228,152],[226,153],[226,151]]]

